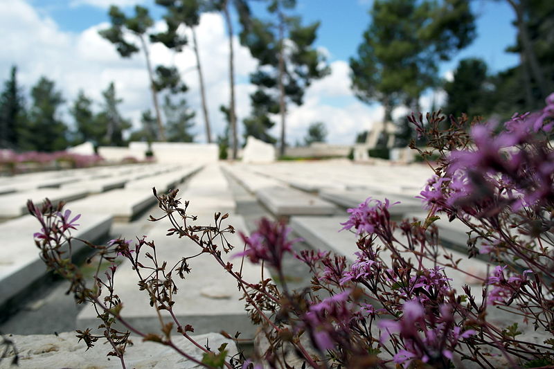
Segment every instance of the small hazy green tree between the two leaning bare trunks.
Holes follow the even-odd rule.
[[[193,119],[196,113],[190,110],[184,98],[172,102],[170,96],[166,95],[163,100],[163,113],[166,115],[166,136],[169,142],[194,141],[194,134],[190,129],[195,125]]]

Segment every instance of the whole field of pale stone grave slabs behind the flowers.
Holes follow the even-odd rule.
[[[38,231],[39,226],[36,219],[24,215],[27,198],[33,201],[40,201],[43,197],[68,201],[66,208],[73,214],[82,214],[78,222],[81,224],[79,231],[74,233],[78,237],[107,242],[116,237],[129,240],[147,235],[156,242],[163,258],[175,261],[190,251],[187,249],[190,242],[187,244],[187,240],[166,237],[170,225],[163,221],[148,222],[147,218],[150,214],[160,214],[152,195],[152,186],[159,192],[179,188],[179,197],[190,200],[190,214],[199,215],[198,224],[213,222],[213,214],[221,211],[230,214],[226,219],[229,224],[249,234],[261,217],[285,219],[292,227],[292,237],[303,239],[295,244],[296,249],[333,251],[345,255],[348,262],[352,262],[357,251],[356,236],[348,231],[339,232],[340,223],[348,218],[346,209],[371,196],[374,199],[401,201],[391,207],[393,219],[425,217],[425,210],[414,197],[430,176],[429,168],[423,165],[392,167],[390,164],[367,165],[337,160],[268,164],[217,161],[150,163],[2,178],[1,186],[20,190],[0,195],[0,217],[3,219],[0,223],[0,233],[3,234],[0,331],[17,335],[69,332],[64,337],[69,337],[67,339],[71,341],[74,330],[98,326],[93,309],[76,306],[73,297],[65,294],[67,282],[46,273],[44,265],[38,260],[33,233]],[[19,186],[22,183],[25,186]],[[48,187],[41,188],[45,183]],[[448,222],[438,222],[438,227],[445,245],[449,246],[448,251],[456,258],[464,257],[463,247],[467,241],[465,228]],[[242,249],[243,244],[237,235],[231,243]],[[387,255],[382,257],[386,259]],[[193,273],[185,282],[192,284],[196,292],[192,296],[177,295],[180,297],[176,307],[181,307],[179,319],[192,324],[195,334],[215,332],[208,335],[211,339],[216,339],[214,337],[219,336],[217,332],[222,329],[231,334],[241,331],[244,337],[253,337],[256,330],[244,312],[244,302],[238,300],[240,294],[235,282],[226,283],[213,260],[205,261],[191,262]],[[483,260],[465,262],[463,268],[480,277],[486,276],[490,268]],[[304,264],[292,257],[288,257],[285,263],[285,278],[290,287],[307,287],[310,284],[310,273]],[[87,270],[90,267],[84,265],[82,268]],[[244,273],[250,280],[260,276],[256,266],[245,267]],[[461,290],[462,285],[481,287],[479,280],[460,272],[447,273],[454,278],[452,285],[457,290]],[[199,275],[202,278],[195,279]],[[116,278],[116,289],[129,321],[147,332],[159,330],[158,318],[148,306],[148,297],[136,287],[133,272],[121,268]],[[506,316],[499,311],[491,321],[505,325]],[[24,365],[31,363],[23,367],[39,367],[37,363],[42,362],[44,353],[28,349],[28,341],[21,336],[17,339],[26,348],[21,352],[26,360],[21,362]],[[79,350],[84,352],[84,345]],[[99,354],[98,358],[105,367],[116,368],[119,365],[113,360],[111,363],[106,361],[103,354]],[[6,361],[0,363],[0,367],[6,364]]]

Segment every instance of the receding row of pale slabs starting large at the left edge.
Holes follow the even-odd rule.
[[[175,168],[175,165],[173,167]],[[165,192],[188,179],[199,168],[199,165],[184,166],[184,168],[160,174],[150,179],[150,183],[156,182],[159,185],[159,191]],[[78,201],[71,201],[73,197],[70,196],[84,197],[86,192],[75,189],[35,190],[6,195],[0,199],[9,197],[12,201],[19,201],[19,207],[13,207],[18,210],[13,213],[14,215],[21,215],[27,211],[26,206],[21,204],[26,204],[29,197],[37,204],[42,202],[44,197],[49,197],[54,202],[71,201],[66,208],[72,211],[73,216],[82,215],[77,222],[80,226],[77,231],[73,231],[73,236],[96,242],[107,237],[114,219],[132,219],[157,201],[152,194],[152,186],[146,188],[145,183],[143,185],[139,187],[142,189],[111,190]],[[4,215],[11,210],[8,207],[9,204],[7,201],[3,201],[0,207]],[[16,203],[14,202],[14,204]],[[24,215],[0,224],[0,234],[3,235],[3,242],[0,246],[2,255],[0,261],[0,306],[7,306],[10,300],[20,296],[46,273],[44,263],[39,259],[39,249],[33,241],[33,233],[38,232],[39,228],[39,222],[31,215]],[[73,243],[73,252],[77,253],[82,246],[80,242]]]

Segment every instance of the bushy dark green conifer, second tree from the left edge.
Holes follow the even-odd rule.
[[[23,150],[53,152],[67,147],[66,125],[58,109],[64,102],[53,81],[41,77],[31,89],[32,106],[19,126],[19,147]]]

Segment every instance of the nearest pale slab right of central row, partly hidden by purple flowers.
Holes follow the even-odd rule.
[[[341,222],[346,222],[347,217],[292,217],[290,225],[292,229],[298,233],[303,239],[311,244],[315,249],[323,249],[325,251],[332,251],[339,255],[346,256],[348,262],[354,262],[356,260],[355,253],[358,250],[356,246],[357,236],[350,231],[341,231]],[[398,240],[404,240],[400,231],[395,235]],[[467,255],[458,253],[450,249],[445,250],[446,253],[454,255],[454,260],[462,259],[458,264],[458,267],[479,278],[485,278],[488,275],[488,271],[492,270],[492,267],[486,262],[481,260],[469,260]],[[404,258],[411,258],[412,262],[415,260],[415,255],[409,255],[403,252]],[[381,258],[384,262],[391,262],[390,251],[384,250],[381,252]],[[439,258],[439,262],[448,263],[449,260],[444,257]],[[429,260],[423,260],[423,264],[426,268],[432,268],[434,265]],[[463,285],[469,285],[473,287],[474,291],[479,291],[482,281],[478,278],[468,276],[466,273],[453,269],[452,267],[445,267],[445,273],[451,281],[452,287],[456,289],[458,294],[463,294]],[[481,294],[476,294],[476,300],[482,300]]]

